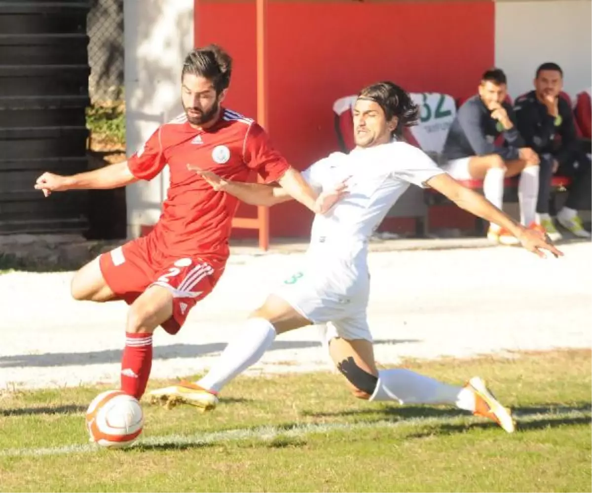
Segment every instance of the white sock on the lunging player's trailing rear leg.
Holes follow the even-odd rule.
[[[468,387],[439,382],[403,368],[379,370],[371,401],[399,404],[452,404],[465,411],[475,410],[475,394]]]

